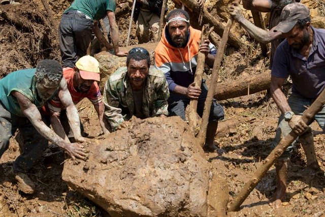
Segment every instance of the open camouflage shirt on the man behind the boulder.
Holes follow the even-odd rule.
[[[168,84],[162,71],[150,67],[144,83],[142,112],[146,117],[165,114],[168,116]],[[127,75],[127,68],[116,70],[107,80],[103,101],[105,116],[115,131],[121,122],[134,114],[134,98]]]

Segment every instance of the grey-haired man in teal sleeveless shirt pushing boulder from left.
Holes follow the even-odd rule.
[[[26,173],[40,159],[48,141],[63,148],[73,159],[86,157],[83,146],[64,141],[42,120],[39,109],[56,94],[67,108],[76,141],[87,141],[81,136],[78,111],[58,61],[45,59],[35,69],[15,71],[0,80],[0,158],[9,147],[10,137],[19,129],[24,147],[8,175],[26,194],[35,191],[35,184]]]

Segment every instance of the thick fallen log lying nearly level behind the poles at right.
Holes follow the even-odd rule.
[[[256,92],[270,88],[271,71],[267,70],[262,74],[252,77],[219,83],[213,98],[216,100],[226,100],[235,97],[255,94]]]

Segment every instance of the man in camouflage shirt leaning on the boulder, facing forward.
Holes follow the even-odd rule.
[[[112,130],[127,127],[138,118],[167,117],[169,90],[162,71],[150,67],[150,55],[144,48],[128,52],[126,67],[116,70],[104,89],[105,116]]]

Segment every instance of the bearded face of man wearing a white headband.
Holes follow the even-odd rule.
[[[171,16],[169,20],[175,17],[182,17],[186,19],[184,15],[181,16],[175,15],[175,16]],[[188,26],[185,21],[175,20],[173,22],[170,22],[168,24],[168,32],[176,47],[180,48],[185,46],[185,42],[187,41],[187,37],[188,37]]]

